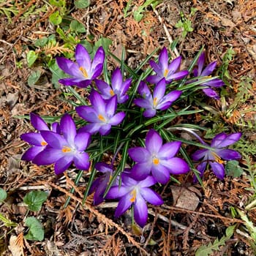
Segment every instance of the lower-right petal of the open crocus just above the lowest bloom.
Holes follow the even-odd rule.
[[[189,172],[189,165],[184,159],[173,157],[167,160],[161,160],[161,164],[165,165],[172,174],[183,174]]]

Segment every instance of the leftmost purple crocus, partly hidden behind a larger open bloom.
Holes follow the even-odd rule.
[[[45,121],[37,116],[34,113],[30,113],[30,121],[32,126],[37,129],[38,131],[49,131],[48,125],[45,123]],[[53,132],[59,132],[59,124],[53,123],[51,129]],[[21,160],[26,161],[32,161],[34,157],[37,156],[41,151],[45,149],[45,146],[47,146],[47,142],[44,138],[42,138],[42,135],[39,132],[28,132],[24,133],[23,135],[20,135],[20,138],[22,140],[25,140],[27,143],[31,144],[31,148],[29,148],[21,157]]]

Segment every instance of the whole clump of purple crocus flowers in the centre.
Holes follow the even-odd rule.
[[[103,156],[103,153],[109,153],[105,152],[108,151],[106,148],[113,148],[111,165],[105,162],[92,163],[91,166],[102,175],[92,181],[88,192],[94,192],[94,205],[102,203],[105,199],[118,199],[116,217],[124,214],[132,206],[135,221],[143,227],[148,219],[146,202],[155,206],[163,203],[162,198],[154,192],[153,186],[157,183],[167,184],[170,175],[189,172],[187,162],[176,157],[178,151],[184,154],[184,148],[181,150],[181,142],[177,141],[177,138],[173,141],[173,134],[168,136],[169,130],[160,124],[161,115],[165,110],[174,117],[178,116],[178,110],[170,111],[169,108],[183,92],[186,95],[186,90],[192,88],[193,82],[190,83],[190,87],[182,91],[182,84],[185,82],[182,81],[178,86],[177,81],[185,78],[189,72],[178,70],[181,66],[181,57],[173,59],[169,64],[166,48],[159,53],[158,64],[155,61],[149,62],[154,69],[154,75],[149,75],[145,80],[136,80],[138,79],[136,72],[133,73],[133,78],[125,79],[119,68],[114,70],[110,84],[105,80],[96,79],[101,75],[105,61],[105,52],[102,47],[98,48],[94,58],[91,59],[83,45],[78,44],[75,48],[75,60],[56,58],[60,69],[70,76],[70,78],[61,78],[59,83],[81,88],[91,85],[88,90],[90,91],[90,105],[80,105],[75,108],[78,115],[87,123],[82,127],[79,125],[77,130],[75,121],[66,113],[62,116],[60,124],[53,123],[49,129],[48,124],[42,118],[31,113],[31,124],[38,132],[21,135],[23,140],[31,144],[31,148],[23,154],[22,159],[32,161],[37,165],[55,164],[55,173],[61,174],[72,163],[80,171],[89,170],[91,162],[98,159],[95,156]],[[216,67],[216,61],[203,69],[204,64],[205,53],[202,53],[197,61],[197,68],[194,69],[195,79],[192,78],[192,81],[199,80],[199,77],[208,77]],[[153,85],[147,85],[146,82]],[[207,87],[203,89],[204,93],[215,99],[218,99],[218,95],[212,88],[223,86],[223,84],[222,80],[217,78],[208,82],[201,80],[200,83],[201,86]],[[151,86],[154,86],[153,93],[151,93]],[[132,89],[131,92],[129,88]],[[134,99],[137,93],[141,98]],[[182,97],[186,97],[184,94]],[[134,108],[135,105],[143,108],[143,114]],[[191,113],[193,110],[189,112]],[[152,118],[154,116],[157,118]],[[169,115],[165,116],[169,118]],[[144,117],[151,118],[147,120],[148,124]],[[169,123],[170,121],[168,121],[168,126],[171,125]],[[97,132],[99,135],[94,136]],[[140,134],[147,132],[145,146],[143,138],[136,138],[135,132],[140,132]],[[163,143],[160,134],[165,135],[167,143]],[[222,159],[228,161],[241,157],[237,151],[225,147],[239,140],[241,133],[232,135],[221,133],[214,137],[211,146],[208,146],[195,133],[194,135],[204,146],[208,147],[208,149],[200,149],[192,154],[192,159],[199,162],[197,170],[200,176],[203,176],[209,164],[218,178],[224,178],[225,169]],[[91,138],[93,143],[90,144]],[[112,145],[109,146],[109,143]],[[91,162],[86,152],[89,144],[90,151],[93,152]],[[141,146],[137,146],[138,144]],[[124,155],[120,157],[121,164],[114,171],[113,164],[120,150]],[[127,162],[124,159],[128,156],[135,163],[131,165],[129,162],[130,168],[126,169]],[[116,180],[113,177],[117,177]]]

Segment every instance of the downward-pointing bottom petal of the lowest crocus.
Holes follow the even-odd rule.
[[[144,227],[148,219],[148,207],[142,196],[136,197],[134,206],[135,222],[140,226]]]

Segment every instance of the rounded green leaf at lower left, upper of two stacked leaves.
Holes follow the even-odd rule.
[[[48,194],[43,191],[31,191],[25,195],[23,202],[31,211],[39,211],[42,208],[42,203],[47,200]]]

